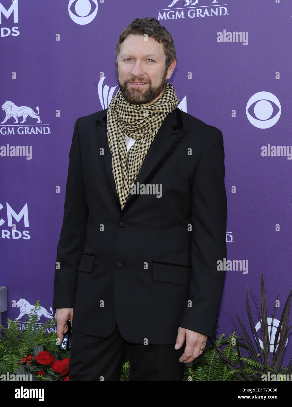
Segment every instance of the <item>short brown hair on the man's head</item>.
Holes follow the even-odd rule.
[[[118,69],[118,57],[121,50],[121,44],[129,34],[145,35],[154,38],[157,42],[163,45],[164,53],[166,56],[165,69],[167,70],[173,61],[176,59],[176,47],[174,46],[171,33],[163,27],[155,18],[136,18],[132,21],[119,36],[116,43],[116,68]]]

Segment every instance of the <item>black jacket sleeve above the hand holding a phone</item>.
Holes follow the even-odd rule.
[[[74,308],[78,266],[82,256],[88,208],[79,149],[79,119],[75,123],[69,155],[64,218],[55,266],[55,293],[53,308]]]

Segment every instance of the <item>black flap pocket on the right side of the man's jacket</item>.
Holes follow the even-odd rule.
[[[153,278],[156,281],[189,284],[191,267],[152,262]]]

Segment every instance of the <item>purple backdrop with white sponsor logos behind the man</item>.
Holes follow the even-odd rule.
[[[0,0],[2,323],[22,329],[37,300],[40,322],[52,315],[74,123],[117,92],[116,41],[137,17],[173,35],[180,108],[223,132],[228,260],[241,262],[226,271],[217,335],[234,329],[228,312],[248,324],[246,287],[260,299],[261,273],[269,317],[280,289],[280,318],[292,286],[291,3],[170,1]]]

